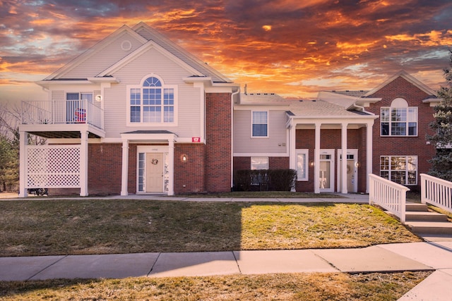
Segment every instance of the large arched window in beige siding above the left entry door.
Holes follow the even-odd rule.
[[[150,76],[141,86],[129,87],[129,124],[174,124],[176,87]]]

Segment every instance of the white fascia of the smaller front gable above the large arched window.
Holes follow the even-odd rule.
[[[136,35],[138,35],[138,34],[136,33]],[[145,44],[143,44],[143,46],[136,49],[136,51],[133,51],[131,54],[124,57],[124,59],[119,60],[117,63],[114,63],[114,65],[112,65],[111,67],[107,68],[106,70],[103,70],[101,73],[99,73],[97,75],[97,77],[111,75],[112,73],[116,72],[123,66],[126,66],[127,63],[129,63],[131,60],[135,59],[137,56],[140,56],[141,54],[145,53],[145,51],[148,51],[149,49],[153,49],[153,48],[155,50],[157,50],[158,52],[160,52],[160,54],[166,56],[168,59],[174,61],[174,63],[177,63],[177,65],[179,65],[182,68],[184,68],[185,70],[187,70],[187,72],[189,72],[193,75],[201,76],[201,77],[204,76],[198,70],[192,68],[187,63],[185,63],[184,61],[179,59],[177,56],[174,56],[174,54],[171,54],[169,51],[167,51],[166,49],[161,47],[159,44],[155,43],[153,40],[150,40],[150,41],[146,42]]]

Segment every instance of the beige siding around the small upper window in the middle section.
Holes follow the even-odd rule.
[[[268,137],[251,138],[251,111],[234,111],[234,154],[285,154],[287,152],[285,111],[269,111],[268,115]]]

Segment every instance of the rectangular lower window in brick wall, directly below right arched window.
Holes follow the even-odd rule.
[[[417,156],[380,156],[380,176],[401,185],[417,185]]]

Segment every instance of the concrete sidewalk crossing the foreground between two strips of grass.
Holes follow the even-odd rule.
[[[449,300],[452,296],[452,242],[331,250],[0,257],[0,281],[396,271],[434,271],[400,300]]]

